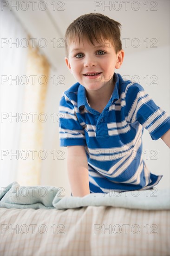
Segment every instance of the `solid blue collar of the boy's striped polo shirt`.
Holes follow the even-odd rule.
[[[113,93],[111,94],[111,98],[109,101],[109,105],[111,105],[112,102],[117,101],[119,99],[119,77],[118,74],[114,73],[114,79],[115,79],[115,88],[113,90]],[[85,87],[83,85],[79,85],[78,87],[78,109],[82,106],[84,107],[87,102],[86,94],[85,94]]]

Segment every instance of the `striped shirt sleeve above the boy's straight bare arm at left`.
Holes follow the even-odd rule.
[[[78,121],[76,109],[77,106],[63,94],[59,102],[59,145],[61,147],[86,145],[85,132]]]

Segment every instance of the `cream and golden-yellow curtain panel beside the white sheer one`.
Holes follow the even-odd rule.
[[[43,148],[45,125],[48,115],[45,102],[49,81],[50,65],[39,48],[28,47],[23,113],[26,122],[22,122],[20,134],[20,158],[17,181],[24,185],[40,185],[41,170],[47,152]],[[34,78],[34,79],[33,79]]]

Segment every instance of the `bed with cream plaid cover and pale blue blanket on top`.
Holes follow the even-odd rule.
[[[9,191],[1,196],[0,255],[170,255],[169,189],[83,198],[59,198],[56,192],[51,205],[34,195],[35,207],[33,198],[16,202]]]

